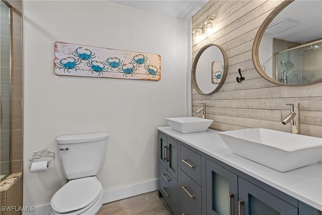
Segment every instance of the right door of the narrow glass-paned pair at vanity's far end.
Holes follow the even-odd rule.
[[[169,173],[178,181],[178,147],[179,144],[175,140],[168,138],[167,150],[167,169]]]

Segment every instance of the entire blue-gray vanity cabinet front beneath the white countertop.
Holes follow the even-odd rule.
[[[175,215],[322,215],[162,131],[158,161],[159,196]]]

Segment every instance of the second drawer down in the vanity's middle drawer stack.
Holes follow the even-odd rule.
[[[181,171],[180,193],[198,214],[201,214],[201,187]]]

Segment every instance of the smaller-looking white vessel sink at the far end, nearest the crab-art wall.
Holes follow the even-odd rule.
[[[181,133],[194,133],[206,131],[213,120],[198,117],[175,117],[166,118],[171,129]]]

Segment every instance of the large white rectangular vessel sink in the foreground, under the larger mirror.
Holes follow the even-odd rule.
[[[218,132],[233,154],[280,172],[322,160],[322,138],[264,128]]]

